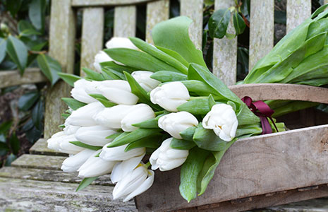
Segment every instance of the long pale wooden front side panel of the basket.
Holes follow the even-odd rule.
[[[157,171],[152,187],[137,197],[138,209],[169,211],[327,184],[328,125],[236,141],[205,194],[190,203],[178,192],[179,171]]]

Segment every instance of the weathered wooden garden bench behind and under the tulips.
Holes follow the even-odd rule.
[[[190,35],[195,45],[200,48],[202,40],[202,6],[203,0],[181,0],[181,15],[194,20]],[[136,4],[147,4],[146,40],[152,42],[151,31],[156,23],[169,18],[169,0],[56,0],[51,2],[51,20],[49,37],[49,54],[60,61],[63,71],[73,73],[75,13],[78,8],[83,10],[83,28],[81,45],[81,67],[92,68],[95,54],[103,48],[104,7],[114,6],[114,36],[128,37],[135,35]],[[232,6],[233,0],[217,0],[215,8]],[[310,16],[311,1],[287,1],[287,32],[295,28],[305,18]],[[255,62],[269,52],[274,43],[274,0],[251,0],[250,16],[250,69]],[[229,28],[231,33],[233,28]],[[228,86],[236,83],[237,40],[214,40],[213,67],[214,74]],[[17,71],[0,72],[0,88],[20,85],[23,83],[39,83],[46,78],[38,69],[28,69],[20,77]],[[232,87],[231,87],[232,88]],[[68,156],[64,153],[51,151],[47,148],[47,138],[59,131],[57,127],[63,123],[61,113],[66,105],[61,97],[68,96],[71,88],[62,81],[48,90],[44,119],[44,139],[40,139],[30,148],[30,154],[20,156],[11,167],[0,170],[0,210],[13,211],[137,211],[133,201],[123,203],[113,201],[111,184],[108,175],[99,177],[92,185],[80,192],[75,192],[80,178],[74,173],[60,170],[62,161]],[[312,110],[311,117],[322,117]],[[299,112],[302,114],[304,112]],[[298,116],[296,114],[296,117]],[[314,125],[315,120],[290,118],[293,123]],[[313,118],[314,119],[314,118]],[[320,123],[317,123],[320,124]],[[317,131],[328,131],[328,126],[313,127],[313,135]],[[302,131],[300,129],[299,131]],[[291,136],[288,132],[287,136]],[[285,134],[285,136],[286,136]],[[327,134],[326,134],[327,135]],[[270,135],[268,135],[269,137]],[[309,134],[308,136],[312,136]],[[248,139],[250,140],[250,139]],[[256,140],[256,139],[255,139]],[[322,151],[326,148],[327,137],[323,138]],[[261,139],[257,139],[261,142]],[[237,144],[237,143],[236,143]],[[239,143],[240,144],[240,143]],[[239,145],[238,144],[238,145]],[[284,143],[281,143],[284,145]],[[239,145],[239,148],[243,146]],[[311,148],[310,148],[311,150]],[[267,147],[267,151],[270,147]],[[227,153],[228,154],[228,153]],[[232,153],[231,153],[232,154]],[[302,154],[302,152],[298,153]],[[222,162],[223,163],[223,162]],[[226,169],[227,170],[227,169]],[[177,172],[178,170],[174,170]],[[293,170],[291,170],[293,172]],[[157,172],[159,173],[159,172]],[[164,173],[165,174],[165,173]],[[294,172],[295,177],[298,173]],[[159,174],[160,175],[160,174]],[[155,175],[157,176],[157,174]],[[164,175],[162,176],[162,179]],[[166,175],[170,177],[169,175]],[[273,179],[273,178],[272,178]],[[310,179],[309,179],[310,180]],[[177,182],[177,181],[176,181]],[[168,187],[170,182],[167,182]],[[310,182],[306,182],[310,183]],[[311,182],[310,187],[282,189],[243,199],[226,199],[220,204],[205,204],[193,206],[188,210],[179,211],[240,211],[251,208],[272,206],[272,211],[326,211],[327,199],[315,199],[296,204],[295,201],[328,196],[328,182]],[[174,185],[176,186],[176,185]],[[176,192],[178,190],[176,189]],[[144,194],[148,195],[148,194]],[[154,196],[154,195],[153,195]],[[172,195],[174,196],[174,195]],[[147,196],[150,198],[150,196]],[[137,206],[143,210],[157,211],[161,209],[163,199],[157,201],[158,206],[146,204],[138,198]],[[186,201],[183,201],[185,208]]]

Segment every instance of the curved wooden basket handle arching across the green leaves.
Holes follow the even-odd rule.
[[[328,89],[294,84],[262,83],[229,86],[239,98],[253,100],[303,100],[328,104]]]

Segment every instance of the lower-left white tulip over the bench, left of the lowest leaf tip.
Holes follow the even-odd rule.
[[[63,160],[63,165],[61,165],[61,170],[64,172],[76,172],[85,161],[87,161],[88,158],[92,154],[94,154],[95,151],[92,151],[90,149],[85,149],[84,151],[80,151],[80,153],[77,153],[76,155],[70,156],[69,158],[66,158]]]

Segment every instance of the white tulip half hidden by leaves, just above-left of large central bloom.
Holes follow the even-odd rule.
[[[140,86],[145,89],[147,92],[150,92],[152,89],[156,88],[160,81],[150,78],[152,76],[152,71],[133,71],[131,75],[135,78]]]

